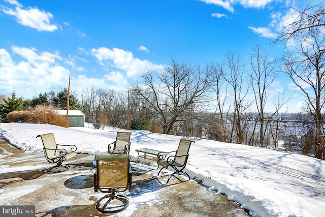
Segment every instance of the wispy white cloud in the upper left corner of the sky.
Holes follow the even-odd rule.
[[[22,5],[17,1],[8,1],[10,4],[15,5],[15,9],[10,9],[8,7],[2,7],[1,10],[8,15],[16,17],[18,23],[29,26],[31,28],[36,28],[38,31],[48,31],[53,32],[57,29],[56,25],[50,24],[50,19],[53,15],[49,12],[39,10],[38,8],[22,9]]]

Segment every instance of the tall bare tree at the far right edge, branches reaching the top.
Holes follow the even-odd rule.
[[[324,137],[324,95],[325,95],[325,12],[324,3],[307,5],[304,10],[294,9],[296,20],[283,26],[278,41],[294,41],[294,51],[284,55],[284,72],[306,97],[309,112],[316,125],[316,158],[322,156]],[[293,43],[290,43],[293,44]]]

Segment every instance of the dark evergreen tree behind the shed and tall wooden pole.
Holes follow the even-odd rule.
[[[68,99],[68,89],[64,88],[58,94],[52,98],[52,104],[61,109],[67,109],[67,99]],[[78,99],[70,94],[69,96],[69,110],[78,110],[80,108],[80,104]]]

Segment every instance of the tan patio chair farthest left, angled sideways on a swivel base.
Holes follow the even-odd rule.
[[[70,169],[68,165],[62,165],[63,161],[67,161],[77,155],[77,146],[75,145],[59,145],[56,144],[53,133],[38,135],[43,142],[43,150],[45,158],[49,163],[56,164],[48,168],[48,172],[64,172]],[[70,147],[70,150],[64,147]]]

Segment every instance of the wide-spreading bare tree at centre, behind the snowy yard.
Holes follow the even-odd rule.
[[[163,71],[144,73],[133,91],[150,105],[151,114],[163,125],[163,133],[171,134],[176,122],[196,118],[207,107],[212,82],[208,68],[194,69],[173,59]],[[187,115],[191,108],[195,114]]]

